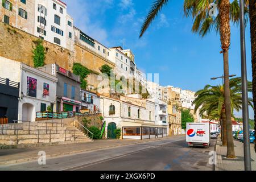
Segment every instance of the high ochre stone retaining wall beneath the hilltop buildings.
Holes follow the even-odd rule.
[[[32,51],[35,47],[34,41],[38,38],[2,22],[0,22],[0,32],[0,56],[34,67]],[[73,64],[80,63],[98,73],[100,73],[100,67],[104,64],[108,64],[112,68],[115,67],[111,61],[77,43],[75,43],[74,52],[45,40],[43,46],[46,48],[45,64],[56,63],[60,67],[72,71]],[[87,78],[88,84],[97,87],[98,81],[96,81],[96,78],[97,75],[90,75]]]

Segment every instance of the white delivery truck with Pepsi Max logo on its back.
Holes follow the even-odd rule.
[[[187,123],[186,141],[188,146],[210,146],[209,123]]]

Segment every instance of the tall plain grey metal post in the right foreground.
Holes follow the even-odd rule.
[[[242,111],[243,111],[243,154],[245,160],[245,171],[251,171],[251,154],[249,140],[249,110],[248,90],[245,52],[245,7],[243,0],[240,0],[240,42],[241,42],[241,73],[242,73]]]

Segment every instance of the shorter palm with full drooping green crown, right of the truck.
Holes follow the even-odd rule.
[[[230,80],[230,101],[232,116],[233,111],[239,111],[242,108],[242,88],[241,77]],[[249,91],[251,91],[252,84],[248,82]],[[224,85],[211,86],[206,85],[204,89],[199,90],[195,94],[196,100],[195,112],[200,109],[200,114],[207,113],[210,120],[220,119],[222,122],[222,145],[227,146],[227,128],[226,128],[226,114],[225,114],[225,92]],[[253,100],[249,98],[249,105],[253,107]]]

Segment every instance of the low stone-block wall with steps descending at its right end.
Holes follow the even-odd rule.
[[[0,125],[0,145],[12,147],[92,142],[76,118]]]

